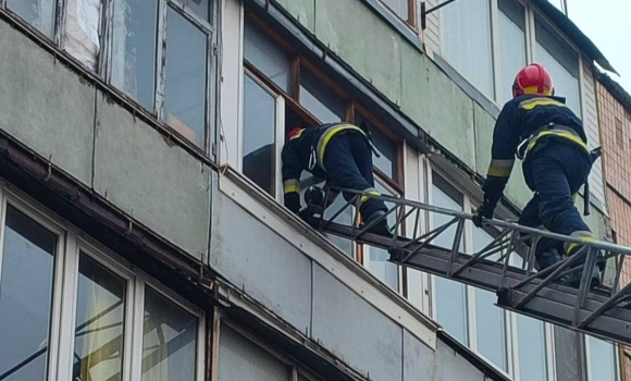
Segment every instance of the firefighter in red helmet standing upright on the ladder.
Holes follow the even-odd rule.
[[[541,64],[528,65],[517,74],[512,97],[495,124],[492,160],[482,187],[484,201],[474,213],[474,224],[480,228],[482,218],[493,218],[517,156],[523,161],[525,183],[534,192],[519,223],[594,241],[574,206],[574,196],[586,183],[593,163],[581,121],[565,98],[554,96],[550,75]],[[581,247],[542,238],[535,253],[540,271],[561,260],[559,253],[571,256]],[[597,269],[591,271],[592,285],[599,284]],[[577,286],[580,280],[578,272],[567,283]]]

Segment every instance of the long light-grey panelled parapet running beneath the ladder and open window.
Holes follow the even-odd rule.
[[[221,190],[213,210],[211,266],[370,380],[484,380],[467,359],[442,342],[430,348]]]

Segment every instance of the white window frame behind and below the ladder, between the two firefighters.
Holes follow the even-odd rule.
[[[428,160],[429,162],[429,160]],[[437,165],[431,165],[430,163],[428,163],[428,165],[430,167],[428,169],[428,174],[426,174],[426,179],[428,179],[428,199],[430,205],[433,204],[433,199],[432,199],[432,192],[430,190],[431,187],[433,187],[434,185],[434,181],[433,181],[433,173],[436,172],[442,179],[443,181],[447,182],[448,184],[450,184],[455,189],[457,189],[461,195],[462,195],[462,209],[465,211],[469,211],[472,209],[472,206],[474,204],[474,199],[467,193],[467,192],[462,192],[460,190],[461,187],[459,188],[453,181],[450,181],[449,176],[441,170],[441,168],[438,168]],[[430,229],[433,229],[434,226],[432,225],[432,218],[431,216],[428,218],[428,225]],[[468,220],[465,223],[465,232],[463,232],[463,245],[465,245],[465,250],[467,253],[472,253],[473,251],[473,223],[472,221]],[[436,275],[429,275],[429,282],[430,282],[430,295],[431,298],[428,300],[429,304],[429,310],[430,310],[430,316],[437,321],[437,311],[436,308],[434,306],[433,300],[436,299],[436,285],[435,285],[435,280],[436,280]],[[500,373],[503,373],[504,376],[515,380],[515,381],[521,381],[521,377],[519,373],[519,341],[518,341],[518,325],[517,325],[517,318],[518,315],[505,309],[502,309],[502,314],[504,317],[504,324],[505,324],[505,329],[504,329],[504,334],[506,336],[506,361],[507,361],[507,369],[508,371],[500,369],[497,365],[495,365],[492,360],[487,359],[482,353],[480,353],[478,351],[478,332],[477,332],[477,324],[475,324],[475,287],[470,286],[470,285],[463,285],[465,286],[465,294],[466,294],[466,304],[467,304],[467,311],[466,311],[466,316],[467,316],[467,321],[466,321],[466,330],[467,330],[467,339],[468,339],[468,343],[462,343],[465,345],[467,345],[469,348],[471,348],[471,351],[473,351],[478,356],[480,356],[481,358],[483,358],[486,362],[488,362],[490,365],[492,365],[497,371],[499,371]],[[440,321],[438,321],[440,323]],[[549,323],[543,323],[543,328],[544,328],[544,337],[545,337],[545,347],[543,348],[543,351],[545,351],[545,367],[546,367],[546,372],[547,372],[547,377],[548,377],[548,381],[556,381],[556,364],[555,364],[555,349],[554,349],[554,327]],[[525,381],[525,380],[524,380]]]

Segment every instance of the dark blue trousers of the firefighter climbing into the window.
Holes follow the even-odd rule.
[[[324,151],[324,170],[327,184],[341,188],[375,193],[372,175],[372,150],[368,139],[355,132],[342,133],[333,137]],[[349,201],[355,194],[344,193],[344,199]],[[366,198],[359,212],[363,220],[378,210],[386,211],[382,200]]]

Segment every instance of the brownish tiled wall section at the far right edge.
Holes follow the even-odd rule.
[[[611,210],[611,239],[628,245],[631,239],[631,180],[629,150],[631,145],[631,96],[606,74],[598,75],[596,86],[603,165],[607,185],[607,204]],[[623,262],[621,283],[631,282],[631,265]],[[629,349],[620,352],[626,380],[631,377]]]

